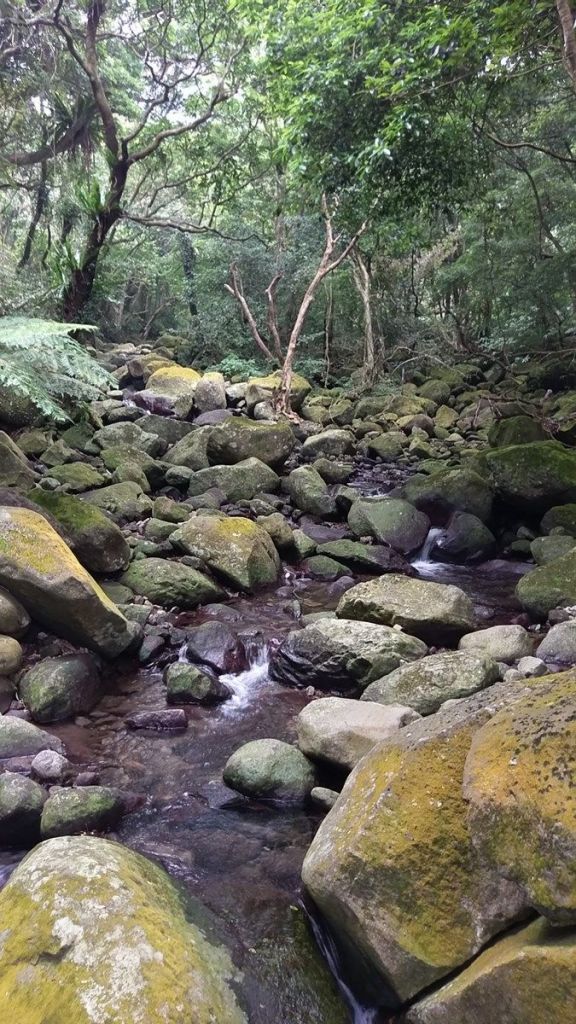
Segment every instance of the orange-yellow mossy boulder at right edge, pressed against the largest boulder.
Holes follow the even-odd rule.
[[[464,797],[479,854],[557,924],[576,924],[576,674],[538,680],[533,696],[476,734]]]

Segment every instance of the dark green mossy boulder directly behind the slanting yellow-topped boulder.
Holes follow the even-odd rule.
[[[119,572],[130,561],[122,531],[99,508],[72,495],[36,487],[30,497],[64,527],[79,562],[90,572]]]

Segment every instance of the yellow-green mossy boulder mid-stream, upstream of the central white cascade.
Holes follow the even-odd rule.
[[[171,543],[240,590],[276,583],[280,558],[265,529],[240,516],[196,516],[172,534]]]

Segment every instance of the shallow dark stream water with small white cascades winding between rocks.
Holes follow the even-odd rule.
[[[316,529],[324,530],[319,540],[344,532],[341,526]],[[509,623],[519,613],[513,591],[528,566],[503,560],[474,567],[435,563],[427,557],[430,546],[424,545],[413,560],[418,575],[461,587],[475,602],[480,626]],[[293,741],[294,716],[310,700],[305,690],[270,678],[271,646],[297,629],[302,614],[334,608],[343,591],[362,579],[368,578],[324,583],[286,569],[274,589],[177,615],[176,624],[184,628],[210,620],[225,623],[243,638],[249,660],[245,671],[222,677],[234,690],[232,699],[212,708],[187,708],[184,733],[127,730],[129,715],[166,707],[162,672],[134,668],[133,662],[110,667],[108,692],[80,723],[50,727],[72,761],[95,766],[102,783],[141,798],[112,838],[159,861],[193,900],[208,908],[215,934],[243,972],[251,1024],[345,1020],[337,1009],[327,1016],[326,1007],[333,1000],[337,1008],[339,1000],[335,991],[326,996],[324,965],[315,961],[314,939],[347,1006],[348,1020],[392,1020],[362,1006],[351,992],[330,937],[303,902],[301,862],[324,812],[249,802],[221,781],[225,761],[242,743],[258,737]],[[22,855],[2,855],[0,883]]]

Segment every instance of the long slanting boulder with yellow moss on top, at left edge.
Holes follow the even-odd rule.
[[[33,618],[99,654],[131,642],[124,616],[40,513],[0,508],[0,586]]]

